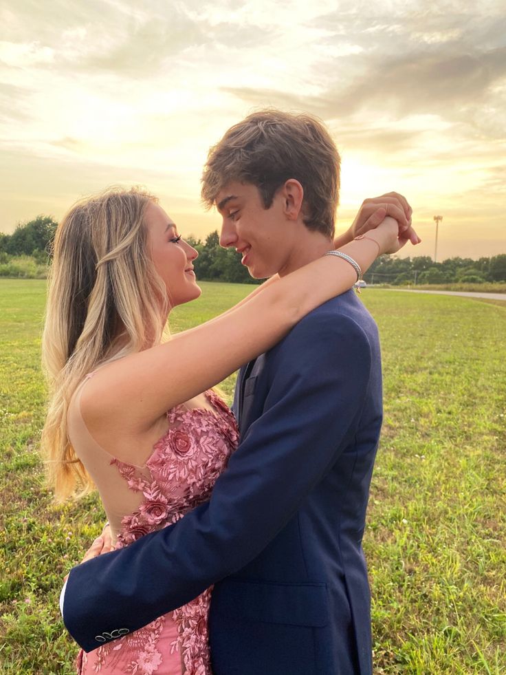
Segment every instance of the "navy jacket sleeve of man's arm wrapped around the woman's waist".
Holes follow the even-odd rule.
[[[210,500],[70,572],[63,619],[86,651],[100,646],[96,636],[137,630],[248,564],[353,438],[371,372],[371,347],[357,323],[309,314],[270,352],[267,367],[263,414]]]

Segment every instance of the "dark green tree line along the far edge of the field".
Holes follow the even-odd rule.
[[[47,215],[19,224],[12,235],[0,233],[0,264],[11,256],[30,256],[38,264],[47,263],[51,256],[56,221]],[[241,265],[241,256],[233,249],[221,248],[217,231],[204,241],[192,235],[186,241],[194,246],[199,257],[195,272],[205,281],[258,283]],[[482,257],[478,260],[454,257],[436,263],[428,255],[399,258],[382,255],[364,275],[367,283],[389,283],[394,286],[426,283],[485,283],[506,281],[506,254]]]

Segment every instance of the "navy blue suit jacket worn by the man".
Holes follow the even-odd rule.
[[[355,294],[241,369],[234,407],[241,442],[210,500],[74,568],[67,629],[91,651],[214,583],[214,675],[370,674],[362,534],[382,383],[377,329]]]

